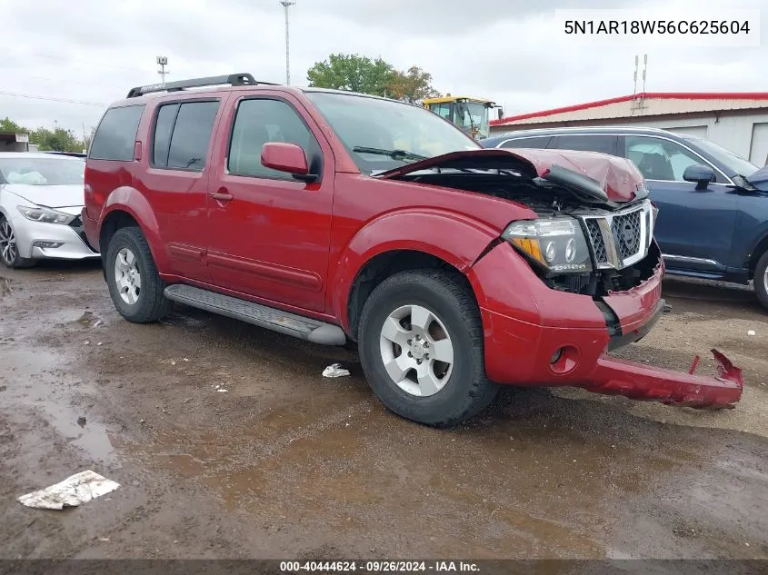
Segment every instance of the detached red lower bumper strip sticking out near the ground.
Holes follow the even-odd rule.
[[[713,377],[695,375],[697,355],[689,372],[674,372],[638,362],[603,355],[590,376],[589,383],[579,387],[589,392],[623,395],[633,400],[661,402],[697,409],[733,408],[742,399],[742,370],[717,350]]]

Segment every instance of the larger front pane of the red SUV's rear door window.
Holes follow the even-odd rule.
[[[218,109],[218,102],[191,102],[181,105],[176,116],[174,134],[171,136],[167,163],[169,168],[197,172],[204,168]]]

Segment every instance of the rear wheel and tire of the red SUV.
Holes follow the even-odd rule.
[[[117,230],[106,250],[105,274],[112,302],[129,322],[156,322],[171,311],[173,302],[165,297],[165,283],[139,228]]]

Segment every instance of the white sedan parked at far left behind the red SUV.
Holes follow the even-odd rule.
[[[99,257],[83,232],[84,174],[81,158],[0,153],[0,261],[22,268]]]

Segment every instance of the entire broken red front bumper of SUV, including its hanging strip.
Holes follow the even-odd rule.
[[[639,341],[659,321],[662,276],[660,263],[637,287],[595,302],[543,289],[511,247],[497,246],[469,274],[482,290],[488,377],[502,384],[573,386],[695,408],[733,407],[742,397],[742,372],[716,350],[718,369],[711,377],[694,373],[698,357],[689,372],[675,372],[608,355]]]

